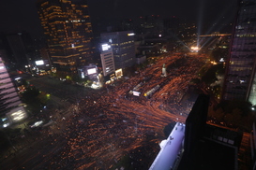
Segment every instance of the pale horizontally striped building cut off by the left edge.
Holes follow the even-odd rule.
[[[0,128],[27,117],[21,104],[20,97],[0,56]]]

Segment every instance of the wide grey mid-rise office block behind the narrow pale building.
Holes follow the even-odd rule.
[[[110,42],[116,69],[135,64],[134,33],[132,31],[100,34],[102,42]]]

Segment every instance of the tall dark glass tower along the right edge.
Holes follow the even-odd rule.
[[[256,105],[256,1],[241,1],[233,30],[222,99]]]

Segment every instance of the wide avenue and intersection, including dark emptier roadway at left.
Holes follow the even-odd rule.
[[[33,148],[26,147],[1,167],[111,169],[128,155],[133,167],[148,169],[158,154],[158,142],[164,138],[163,128],[174,121],[184,123],[188,116],[192,102],[183,96],[189,80],[197,78],[202,60],[203,56],[166,56],[108,91],[63,84],[53,78],[30,79],[39,90],[55,96],[59,104],[67,99],[70,103],[56,124],[43,129]],[[167,77],[160,76],[163,64]],[[149,75],[152,77],[138,91],[143,94],[160,84],[158,91],[150,98],[128,96],[127,92]],[[145,143],[151,150],[141,152]]]

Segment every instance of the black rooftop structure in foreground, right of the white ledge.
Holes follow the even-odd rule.
[[[209,96],[199,95],[188,115],[178,170],[238,169],[242,133],[206,124],[208,104]]]

